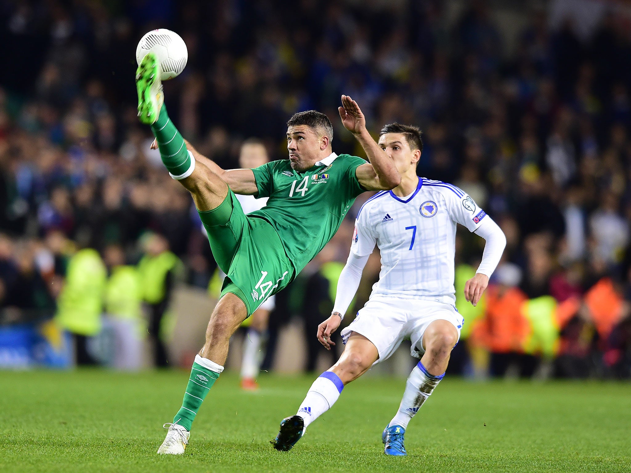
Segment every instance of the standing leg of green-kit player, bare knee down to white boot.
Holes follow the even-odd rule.
[[[195,357],[191,368],[182,407],[175,414],[173,423],[165,424],[165,428],[168,428],[167,438],[158,448],[158,453],[172,455],[184,453],[191,425],[199,407],[223,371],[223,364],[228,356],[230,337],[245,320],[246,315],[244,302],[232,293],[227,293],[217,303],[206,329],[206,342]]]

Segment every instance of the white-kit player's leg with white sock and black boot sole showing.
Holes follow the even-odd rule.
[[[283,419],[271,441],[276,450],[287,452],[304,435],[307,426],[333,407],[345,385],[359,378],[379,359],[377,347],[353,332],[338,363],[324,371],[311,385],[295,416]]]

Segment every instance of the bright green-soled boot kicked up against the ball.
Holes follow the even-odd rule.
[[[158,120],[164,103],[160,64],[153,52],[148,52],[136,69],[136,90],[138,91],[138,119],[146,125]]]

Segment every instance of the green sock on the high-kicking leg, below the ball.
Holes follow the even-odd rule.
[[[158,115],[158,120],[151,125],[151,131],[158,141],[162,162],[171,173],[171,177],[178,178],[190,175],[190,173],[188,175],[186,173],[192,165],[191,156],[186,149],[184,138],[168,117],[165,105],[160,108],[160,115]]]

